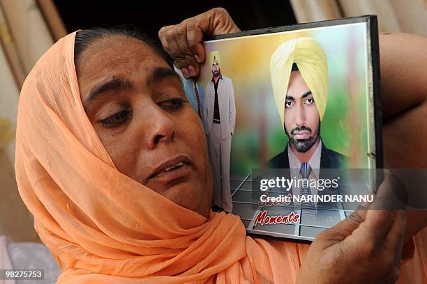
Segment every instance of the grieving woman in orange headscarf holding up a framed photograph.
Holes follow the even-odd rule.
[[[396,281],[404,212],[359,211],[309,251],[246,237],[239,217],[209,209],[204,145],[172,63],[146,38],[87,30],[50,48],[22,88],[15,168],[58,283]]]

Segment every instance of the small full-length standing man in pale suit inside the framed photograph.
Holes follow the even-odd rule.
[[[220,72],[220,53],[211,52],[209,62],[213,76],[206,86],[204,118],[213,175],[213,210],[231,212],[230,152],[236,122],[234,89],[232,80]]]

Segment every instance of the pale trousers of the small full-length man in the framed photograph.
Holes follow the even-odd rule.
[[[213,178],[213,204],[232,212],[230,189],[230,152],[232,135],[221,138],[220,124],[213,123],[209,139],[209,155]]]

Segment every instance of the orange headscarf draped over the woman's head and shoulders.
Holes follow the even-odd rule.
[[[205,218],[117,171],[80,99],[75,33],[24,82],[15,169],[58,283],[294,283],[308,246],[246,237],[238,216]]]

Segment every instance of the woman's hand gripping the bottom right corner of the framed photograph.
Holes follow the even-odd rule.
[[[372,204],[317,235],[297,283],[395,283],[399,278],[406,213],[396,210],[405,188],[389,173]]]

